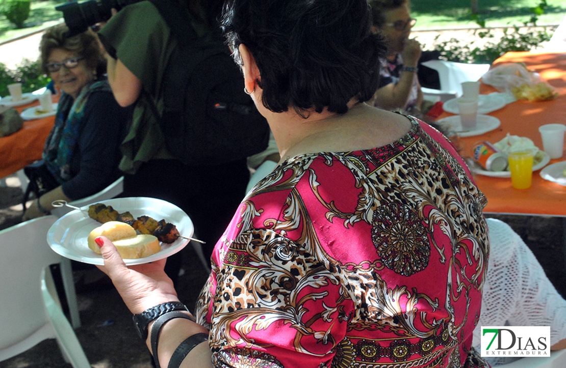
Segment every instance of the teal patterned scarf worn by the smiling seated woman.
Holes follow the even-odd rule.
[[[45,141],[42,155],[49,172],[59,184],[72,177],[71,160],[80,134],[87,123],[84,118],[84,109],[91,93],[97,91],[111,92],[108,81],[94,81],[85,85],[75,100],[65,92],[62,92],[59,98],[55,125]]]

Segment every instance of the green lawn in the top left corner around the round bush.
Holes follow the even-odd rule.
[[[44,27],[45,23],[54,23],[55,20],[62,21],[63,13],[55,10],[55,6],[65,2],[66,0],[33,0],[29,18],[22,29],[16,29],[15,25],[6,19],[6,16],[0,15],[0,43],[38,31]]]

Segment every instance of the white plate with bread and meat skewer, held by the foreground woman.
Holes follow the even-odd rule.
[[[134,218],[147,215],[157,221],[164,219],[177,227],[179,234],[191,237],[194,232],[192,221],[188,215],[179,207],[169,202],[156,198],[131,197],[116,198],[108,201],[101,201],[106,206],[112,206],[119,213],[129,211]],[[62,218],[58,219],[47,233],[47,242],[55,253],[91,265],[104,265],[102,256],[96,254],[88,248],[88,235],[101,223],[88,217],[88,206],[81,207],[81,210],[72,210]],[[161,243],[161,250],[153,256],[137,259],[124,259],[126,265],[140,265],[158,259],[169,257],[179,250],[185,248],[188,240],[182,237],[171,244]]]

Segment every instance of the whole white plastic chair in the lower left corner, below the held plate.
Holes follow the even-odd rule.
[[[63,356],[74,367],[90,367],[61,309],[57,316],[49,298],[42,300],[40,280],[44,269],[62,261],[46,241],[47,232],[56,220],[44,216],[0,231],[0,361],[23,353],[45,339],[55,338]],[[45,273],[45,280],[49,284],[50,272]],[[65,277],[63,285],[74,291]],[[58,300],[56,296],[57,293],[51,300]]]

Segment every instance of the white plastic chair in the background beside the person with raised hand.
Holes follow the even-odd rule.
[[[423,94],[440,96],[440,101],[462,96],[460,83],[479,80],[490,68],[490,64],[465,64],[445,60],[428,60],[422,63],[438,72],[440,89],[422,88]]]

